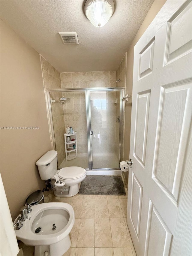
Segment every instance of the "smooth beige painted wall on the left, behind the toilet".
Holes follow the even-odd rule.
[[[13,40],[14,39],[14,40]],[[12,218],[43,189],[35,162],[51,149],[39,54],[1,21],[1,176]]]

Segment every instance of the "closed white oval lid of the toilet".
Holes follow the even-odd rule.
[[[86,170],[78,166],[64,167],[59,172],[59,177],[62,179],[77,179],[83,176]]]

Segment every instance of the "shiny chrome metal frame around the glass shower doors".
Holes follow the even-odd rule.
[[[119,163],[123,158],[123,148],[124,148],[124,126],[125,126],[125,101],[123,97],[125,96],[124,87],[104,87],[104,88],[69,88],[69,89],[46,89],[46,106],[47,106],[47,116],[49,123],[49,133],[51,137],[52,149],[56,150],[55,146],[55,134],[53,128],[53,118],[51,111],[51,100],[50,92],[85,92],[85,106],[86,106],[86,117],[87,117],[87,136],[88,136],[88,168],[85,168],[87,171],[91,171],[88,174],[96,174],[97,171],[112,171],[112,174],[118,174],[119,168],[93,168],[93,154],[92,154],[92,140],[91,140],[91,107],[90,107],[90,92],[109,92],[109,91],[119,91],[120,92],[120,122],[119,122]],[[96,171],[96,172],[93,172]],[[102,173],[101,173],[102,174]],[[120,173],[119,173],[120,174]]]

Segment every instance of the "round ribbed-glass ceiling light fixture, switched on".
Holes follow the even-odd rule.
[[[85,15],[95,27],[103,27],[114,12],[112,0],[88,0],[85,3]]]

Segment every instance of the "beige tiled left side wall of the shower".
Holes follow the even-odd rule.
[[[41,67],[44,80],[44,89],[59,89],[61,88],[60,73],[41,56]],[[64,123],[64,113],[63,105],[60,104],[60,97],[62,97],[62,92],[52,92],[51,98],[56,102],[51,104],[53,127],[55,134],[55,145],[58,152],[57,160],[58,166],[62,163],[65,158],[64,151],[64,133],[65,133],[65,123]],[[48,122],[50,123],[50,117],[48,116]],[[54,136],[52,134],[52,136]]]

